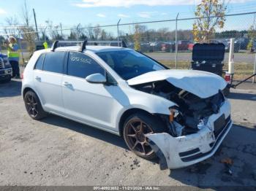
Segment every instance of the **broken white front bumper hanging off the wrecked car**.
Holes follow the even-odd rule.
[[[225,122],[222,122],[222,126],[217,130],[220,117],[225,117]],[[197,133],[179,137],[170,136],[168,133],[154,133],[147,137],[152,149],[160,158],[162,169],[181,168],[214,155],[232,125],[230,103],[226,100],[219,113],[212,114],[205,127]]]

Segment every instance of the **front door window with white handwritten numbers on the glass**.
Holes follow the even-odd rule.
[[[69,52],[67,74],[73,77],[86,78],[91,74],[105,75],[105,69],[88,55],[80,52]]]

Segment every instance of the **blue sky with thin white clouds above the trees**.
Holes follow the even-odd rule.
[[[226,0],[227,1],[227,0]],[[6,17],[15,16],[21,22],[23,0],[0,0],[0,28],[6,25]],[[54,25],[62,24],[63,28],[80,25],[108,25],[131,23],[149,20],[175,19],[192,17],[195,5],[200,0],[26,0],[29,10],[34,8],[38,26],[46,26],[45,20],[52,20]],[[254,12],[255,0],[230,0],[227,13]],[[32,12],[31,12],[32,14]],[[32,15],[31,15],[32,16]],[[233,28],[242,28],[247,17],[228,19],[227,24]],[[252,20],[252,17],[249,17]],[[34,20],[31,20],[34,24]],[[236,22],[236,24],[233,24]],[[167,23],[152,24],[152,27],[169,27]],[[190,23],[181,22],[179,28],[186,28]],[[233,25],[233,26],[232,26]]]

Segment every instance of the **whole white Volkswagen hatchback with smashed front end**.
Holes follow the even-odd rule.
[[[232,126],[222,77],[167,69],[124,47],[34,52],[22,95],[34,120],[48,113],[124,137],[136,155],[181,168],[214,155]]]

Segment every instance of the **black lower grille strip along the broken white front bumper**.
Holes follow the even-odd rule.
[[[212,150],[213,150],[215,147],[217,147],[217,145],[219,144],[219,141],[220,141],[221,137],[222,137],[222,136],[225,134],[225,132],[227,131],[227,128],[229,127],[230,123],[231,123],[231,120],[230,120],[230,116],[229,116],[229,117],[227,117],[227,119],[225,119],[225,125],[222,127],[222,130],[219,132],[218,136],[216,136],[216,137],[217,137],[216,141],[213,142],[213,143],[211,143],[211,144],[209,144],[209,146],[211,147],[211,150],[210,150],[210,151],[205,152],[205,153],[199,152],[199,153],[197,153],[197,154],[195,154],[195,155],[189,155],[188,157],[181,157],[181,155],[180,155],[180,153],[179,153],[179,155],[180,155],[180,157],[181,157],[181,160],[182,160],[183,162],[189,162],[189,161],[191,161],[191,160],[197,160],[197,159],[200,158],[200,157],[204,157],[204,156],[210,154],[210,153],[212,152]],[[193,149],[193,150],[195,150],[195,149]],[[182,153],[182,152],[181,152],[181,153]]]

